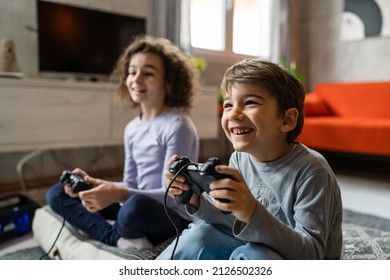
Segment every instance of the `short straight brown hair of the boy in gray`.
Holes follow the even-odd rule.
[[[244,59],[228,68],[222,80],[221,91],[226,95],[233,86],[244,84],[267,89],[276,98],[280,114],[290,108],[298,110],[297,125],[286,135],[287,142],[294,142],[303,127],[303,84],[283,66],[262,59]]]

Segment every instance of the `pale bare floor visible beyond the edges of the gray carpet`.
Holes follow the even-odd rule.
[[[390,219],[390,174],[351,173],[335,171],[345,209]],[[45,190],[32,193],[39,203],[44,203]],[[42,204],[41,204],[42,205]],[[0,244],[0,256],[38,244],[32,234]]]

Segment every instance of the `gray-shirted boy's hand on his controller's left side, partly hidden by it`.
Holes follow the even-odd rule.
[[[174,156],[170,157],[170,159],[168,160],[168,166],[171,166],[179,158],[180,157],[178,155],[174,155]],[[171,184],[172,179],[175,176],[175,174],[172,174],[171,172],[166,171],[164,173],[164,175],[165,175],[165,178],[167,178],[167,186],[169,186],[169,184]],[[183,191],[188,191],[190,186],[187,183],[185,183],[185,181],[186,181],[185,176],[183,176],[183,175],[177,176],[175,181],[172,182],[172,184],[168,190],[168,195],[170,197],[174,198],[176,195],[181,195],[183,193]],[[189,204],[191,204],[195,208],[199,208],[199,200],[200,200],[199,196],[196,194],[193,194]]]

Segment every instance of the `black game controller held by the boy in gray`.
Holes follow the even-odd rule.
[[[187,157],[181,157],[175,161],[169,168],[169,172],[186,177],[185,183],[190,186],[190,189],[183,191],[182,194],[175,196],[175,199],[181,204],[188,204],[192,195],[195,193],[200,195],[203,192],[210,192],[210,183],[215,180],[230,178],[228,175],[221,174],[215,171],[215,166],[221,165],[221,161],[216,157],[210,157],[202,163],[194,163]],[[222,202],[229,202],[227,199],[219,199]]]

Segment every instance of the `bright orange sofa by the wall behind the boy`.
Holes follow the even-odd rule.
[[[317,84],[298,141],[316,150],[390,156],[390,82]]]

